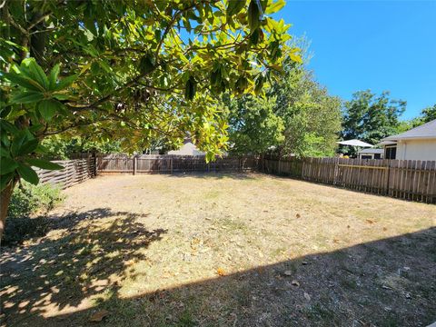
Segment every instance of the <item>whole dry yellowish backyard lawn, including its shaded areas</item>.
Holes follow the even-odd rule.
[[[64,193],[45,237],[2,250],[2,325],[436,321],[435,205],[263,174],[103,176]]]

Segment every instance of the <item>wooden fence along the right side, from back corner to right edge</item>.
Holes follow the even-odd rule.
[[[264,173],[384,194],[395,198],[436,203],[436,162],[342,158],[264,159]]]

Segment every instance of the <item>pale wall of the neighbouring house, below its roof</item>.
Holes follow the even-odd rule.
[[[401,140],[397,144],[396,159],[436,160],[436,139]]]

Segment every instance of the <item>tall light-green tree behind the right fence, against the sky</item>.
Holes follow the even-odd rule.
[[[331,156],[341,130],[341,100],[328,94],[303,66],[286,65],[285,77],[272,86],[276,114],[284,121],[282,155]]]

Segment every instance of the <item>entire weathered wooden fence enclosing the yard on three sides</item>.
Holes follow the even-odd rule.
[[[423,203],[436,203],[436,162],[304,158],[278,160],[223,157],[206,163],[203,156],[98,155],[68,161],[61,171],[37,170],[42,183],[63,188],[84,182],[96,173],[201,173],[246,172],[280,174],[304,181],[327,183],[367,193],[389,195]]]

